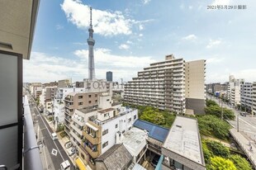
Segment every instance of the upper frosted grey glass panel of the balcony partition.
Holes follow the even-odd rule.
[[[17,56],[0,54],[0,125],[17,122]]]

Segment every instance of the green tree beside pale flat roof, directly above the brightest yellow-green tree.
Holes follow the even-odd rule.
[[[220,156],[223,158],[228,158],[230,156],[230,150],[223,144],[220,144],[220,142],[206,140],[206,145],[215,156]]]

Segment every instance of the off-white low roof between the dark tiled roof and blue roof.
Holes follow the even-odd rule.
[[[131,155],[137,156],[147,144],[147,137],[145,130],[133,127],[121,136],[120,142],[126,146]]]

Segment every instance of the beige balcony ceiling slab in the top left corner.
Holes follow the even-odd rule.
[[[30,59],[40,0],[0,0],[0,50]]]

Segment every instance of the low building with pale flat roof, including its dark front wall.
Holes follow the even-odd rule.
[[[206,170],[197,119],[177,116],[162,147],[162,169]]]

